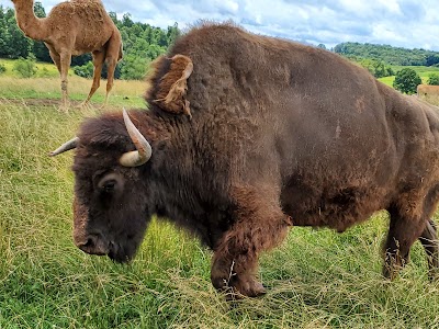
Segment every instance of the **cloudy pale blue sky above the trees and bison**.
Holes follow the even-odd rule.
[[[60,1],[40,0],[46,13]],[[200,20],[328,48],[342,42],[439,52],[439,0],[103,0],[122,19],[182,30]],[[10,0],[0,0],[11,7]]]

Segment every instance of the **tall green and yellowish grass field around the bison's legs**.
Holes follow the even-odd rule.
[[[125,82],[111,106],[143,106],[142,83]],[[82,99],[90,81],[70,86]],[[45,100],[57,88],[0,78],[0,328],[439,328],[439,284],[418,242],[398,279],[381,276],[385,213],[344,235],[293,228],[261,259],[268,294],[235,304],[211,286],[211,252],[166,223],[153,222],[130,265],[82,253],[71,239],[72,154],[47,152],[101,110],[61,113]]]

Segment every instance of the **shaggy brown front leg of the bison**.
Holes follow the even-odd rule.
[[[233,197],[235,224],[215,248],[211,280],[217,290],[254,297],[266,292],[257,280],[258,257],[284,239],[291,222],[278,198],[260,189],[236,188]]]

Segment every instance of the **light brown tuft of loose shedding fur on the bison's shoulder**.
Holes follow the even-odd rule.
[[[193,70],[192,60],[184,55],[176,55],[170,60],[169,71],[160,79],[154,103],[164,111],[191,116],[185,92]]]

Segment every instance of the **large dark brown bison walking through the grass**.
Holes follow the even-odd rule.
[[[103,114],[76,148],[75,243],[131,260],[154,214],[214,251],[218,290],[256,296],[291,225],[344,231],[387,209],[384,275],[419,239],[439,268],[439,115],[333,53],[202,24],[154,64],[149,111]]]

